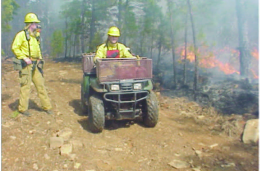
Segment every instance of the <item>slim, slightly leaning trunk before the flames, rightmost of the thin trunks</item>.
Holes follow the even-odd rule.
[[[196,100],[197,80],[198,80],[198,59],[197,59],[196,33],[195,33],[195,28],[194,28],[194,21],[192,18],[190,0],[187,0],[187,3],[188,3],[189,13],[190,13],[190,22],[191,22],[191,26],[192,26],[192,38],[193,38],[194,56],[195,56],[193,90],[194,90],[194,100]]]

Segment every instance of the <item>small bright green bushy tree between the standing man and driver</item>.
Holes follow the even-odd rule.
[[[58,57],[64,51],[64,37],[61,30],[55,30],[51,37],[51,55]]]

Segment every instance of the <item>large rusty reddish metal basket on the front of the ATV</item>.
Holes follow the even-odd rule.
[[[152,59],[98,59],[97,78],[100,82],[124,79],[151,79]]]

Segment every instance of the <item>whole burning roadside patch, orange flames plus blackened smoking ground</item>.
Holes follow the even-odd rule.
[[[180,49],[180,57],[176,65],[176,82],[174,85],[172,64],[162,62],[163,67],[154,76],[155,90],[165,95],[178,98],[187,97],[202,107],[213,107],[217,112],[225,115],[254,114],[258,116],[258,51],[251,53],[251,73],[249,80],[240,78],[239,53],[228,48],[216,53],[207,50],[198,51],[199,77],[197,91],[194,92],[194,53],[187,51],[186,84],[183,85],[183,49]]]

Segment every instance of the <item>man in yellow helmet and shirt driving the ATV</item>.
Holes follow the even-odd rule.
[[[117,27],[112,26],[107,32],[108,38],[106,43],[103,43],[99,46],[94,58],[94,62],[97,62],[97,58],[136,58],[133,56],[126,46],[118,42],[120,36],[120,31]]]

